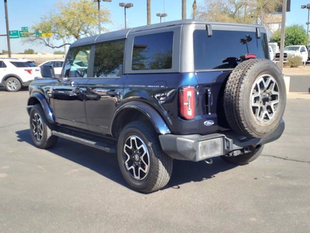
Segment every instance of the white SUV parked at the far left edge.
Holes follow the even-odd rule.
[[[7,91],[19,91],[40,76],[40,68],[31,60],[0,58],[0,86],[5,86]]]

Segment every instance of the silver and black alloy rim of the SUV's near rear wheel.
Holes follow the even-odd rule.
[[[124,144],[124,165],[135,180],[143,180],[149,171],[149,152],[143,140],[138,136],[130,136]]]

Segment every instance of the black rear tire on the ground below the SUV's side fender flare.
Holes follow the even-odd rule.
[[[135,179],[134,177],[135,173],[133,171],[133,168],[127,170],[125,164],[126,159],[132,156],[132,159],[130,159],[127,162],[127,166],[131,167],[130,163],[132,163],[132,166],[135,167],[134,169],[138,167],[139,170],[139,164],[134,165],[135,162],[139,163],[138,158],[137,158],[138,161],[134,159],[136,158],[135,154],[138,153],[138,150],[136,150],[135,153],[133,151],[127,152],[127,154],[130,154],[130,156],[127,156],[124,152],[124,149],[128,150],[128,147],[125,147],[126,142],[127,144],[130,142],[131,144],[130,146],[133,148],[132,150],[135,150],[134,149],[135,146],[131,141],[134,139],[133,137],[137,137],[136,145],[137,141],[138,142],[142,141],[144,143],[144,146],[146,147],[147,152],[149,154],[149,156],[146,157],[148,158],[149,161],[148,171],[146,173],[144,172],[140,173],[139,175],[140,178],[142,178],[142,175],[144,176],[144,178],[141,180]],[[140,147],[141,145],[142,144],[138,146]],[[143,151],[141,153],[143,153]],[[137,157],[139,157],[138,154]],[[142,193],[151,193],[166,186],[166,184],[170,180],[173,161],[171,157],[169,157],[162,151],[158,140],[158,135],[151,125],[145,124],[140,121],[134,121],[127,124],[120,133],[118,138],[117,158],[125,181],[134,190],[137,190]],[[141,162],[140,165],[141,168],[146,170],[146,167],[143,165],[141,160],[140,162]]]

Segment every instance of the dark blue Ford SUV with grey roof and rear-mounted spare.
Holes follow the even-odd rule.
[[[35,145],[58,137],[117,153],[126,182],[153,192],[173,159],[253,161],[279,138],[286,91],[260,25],[180,20],[79,39],[62,75],[30,85]]]

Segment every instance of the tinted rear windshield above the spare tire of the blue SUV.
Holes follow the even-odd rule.
[[[257,39],[254,32],[213,30],[211,37],[207,37],[205,30],[194,32],[195,69],[234,68],[238,64],[236,59],[247,53],[269,59],[265,33]]]

